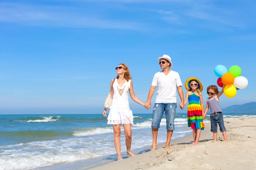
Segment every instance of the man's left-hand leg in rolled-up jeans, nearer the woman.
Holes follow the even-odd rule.
[[[160,122],[163,117],[164,107],[163,103],[155,103],[153,108],[153,116],[152,116],[152,137],[153,137],[153,143],[151,147],[151,151],[155,150],[155,147],[157,146],[157,133],[158,128],[160,127]]]

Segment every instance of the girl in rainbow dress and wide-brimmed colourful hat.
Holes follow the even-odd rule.
[[[201,91],[203,85],[195,78],[190,77],[185,82],[186,98],[184,105],[189,101],[188,105],[188,126],[193,129],[193,145],[198,144],[201,130],[204,130],[204,121],[202,114],[204,113],[204,102]]]

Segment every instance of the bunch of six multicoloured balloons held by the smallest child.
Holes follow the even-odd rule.
[[[236,96],[237,90],[246,88],[248,85],[248,80],[241,76],[242,70],[237,65],[233,65],[228,70],[224,65],[217,65],[214,73],[218,77],[218,86],[222,88],[223,84],[226,85],[224,94],[229,98]]]

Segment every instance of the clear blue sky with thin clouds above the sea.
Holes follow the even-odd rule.
[[[0,113],[102,113],[120,62],[145,102],[163,54],[183,83],[201,80],[204,101],[214,67],[239,65],[249,85],[221,106],[255,102],[255,8],[254,0],[2,0]]]

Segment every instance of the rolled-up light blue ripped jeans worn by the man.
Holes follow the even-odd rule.
[[[166,129],[174,130],[174,119],[177,103],[155,103],[153,108],[152,125],[153,129],[160,127],[160,122],[163,117],[163,112],[166,115]]]

